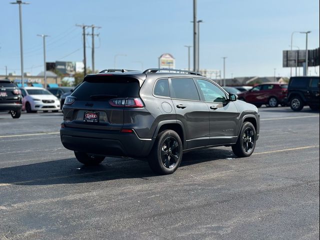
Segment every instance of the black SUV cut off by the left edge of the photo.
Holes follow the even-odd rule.
[[[0,111],[8,111],[13,118],[21,115],[22,95],[17,85],[0,79]]]

